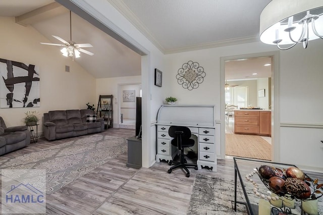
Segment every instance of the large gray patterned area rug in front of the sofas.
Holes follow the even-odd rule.
[[[126,138],[94,134],[12,159],[0,158],[0,166],[13,170],[46,169],[46,193],[50,194],[126,151]]]

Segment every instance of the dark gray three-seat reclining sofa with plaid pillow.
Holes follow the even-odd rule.
[[[87,122],[87,115],[95,113],[89,109],[44,113],[44,137],[51,141],[104,131],[103,118]]]

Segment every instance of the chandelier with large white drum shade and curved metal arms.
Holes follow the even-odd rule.
[[[323,39],[322,0],[273,0],[260,14],[260,40],[281,50]]]

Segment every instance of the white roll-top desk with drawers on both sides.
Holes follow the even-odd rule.
[[[171,126],[186,126],[197,136],[198,169],[217,171],[215,151],[215,126],[213,105],[161,105],[157,114],[157,154],[156,162],[174,159],[178,152],[171,144],[168,130]]]

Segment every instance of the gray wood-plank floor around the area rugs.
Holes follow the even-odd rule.
[[[104,134],[131,137],[134,132],[132,129],[111,128]],[[51,142],[40,139],[3,156],[16,157],[78,138],[82,137]],[[139,170],[126,167],[126,163],[127,153],[123,153],[60,190],[47,194],[46,213],[186,214],[196,174],[234,180],[234,163],[230,159],[218,159],[218,172],[190,169],[190,178],[186,178],[181,169],[168,174],[170,166],[167,163],[156,163]]]

